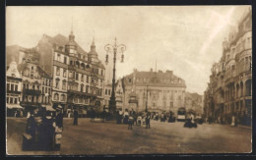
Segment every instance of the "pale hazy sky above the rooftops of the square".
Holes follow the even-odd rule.
[[[203,94],[212,65],[222,56],[222,43],[230,28],[249,6],[8,6],[6,45],[31,48],[45,33],[68,36],[86,51],[95,37],[99,59],[105,61],[104,46],[125,44],[124,63],[117,53],[116,76],[133,72],[166,70],[185,80],[189,92]],[[112,79],[112,56],[106,79]]]

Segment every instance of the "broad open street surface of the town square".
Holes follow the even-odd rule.
[[[183,128],[182,122],[151,121],[145,126],[117,125],[114,122],[92,123],[90,119],[64,119],[60,151],[22,151],[25,118],[7,118],[7,153],[15,155],[92,155],[92,154],[177,154],[177,153],[244,153],[251,150],[249,127],[219,124]]]

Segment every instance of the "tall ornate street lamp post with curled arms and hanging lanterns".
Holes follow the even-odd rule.
[[[111,92],[111,97],[109,100],[109,112],[113,114],[116,111],[116,101],[115,101],[115,62],[116,62],[116,54],[118,53],[117,51],[121,52],[121,63],[123,63],[124,55],[123,52],[126,50],[126,46],[124,44],[116,44],[116,37],[115,37],[115,42],[114,45],[106,44],[104,46],[104,49],[106,51],[105,55],[105,64],[108,64],[108,53],[113,53],[113,79],[112,79],[112,92]]]

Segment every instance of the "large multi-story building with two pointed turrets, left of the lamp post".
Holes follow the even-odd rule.
[[[97,58],[95,40],[87,53],[75,41],[63,35],[43,35],[37,44],[40,65],[52,77],[52,103],[62,105],[64,111],[103,105],[104,66]]]

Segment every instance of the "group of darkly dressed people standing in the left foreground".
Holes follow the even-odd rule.
[[[40,109],[39,119],[30,112],[26,132],[23,134],[23,150],[59,150],[63,132],[63,109],[56,107],[56,114]]]

